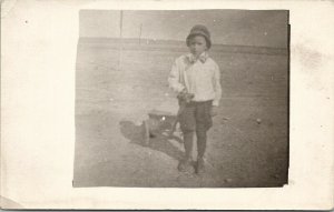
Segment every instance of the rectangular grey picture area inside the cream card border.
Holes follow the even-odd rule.
[[[80,10],[73,186],[287,183],[286,10]]]

